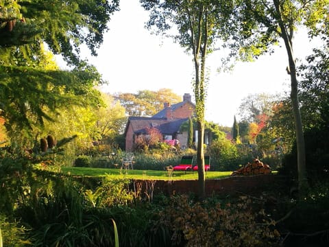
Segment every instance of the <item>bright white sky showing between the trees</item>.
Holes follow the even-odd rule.
[[[108,23],[103,45],[97,57],[82,49],[82,58],[94,64],[108,84],[101,87],[106,93],[137,93],[140,90],[172,89],[177,95],[193,95],[194,75],[192,56],[169,38],[151,35],[145,29],[148,13],[138,0],[121,0],[120,11]],[[296,42],[295,54],[304,58],[310,45]],[[239,62],[229,73],[219,73],[221,53],[207,58],[210,71],[206,95],[206,121],[232,126],[234,115],[239,120],[243,98],[255,93],[284,93],[290,91],[284,47],[255,62]]]

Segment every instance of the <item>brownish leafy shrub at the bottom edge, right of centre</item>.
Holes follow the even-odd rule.
[[[172,198],[160,212],[154,231],[167,226],[174,246],[277,246],[280,234],[263,210],[252,212],[250,201],[236,205]]]

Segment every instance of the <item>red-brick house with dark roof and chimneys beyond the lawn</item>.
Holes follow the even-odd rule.
[[[187,146],[187,132],[180,127],[195,113],[195,104],[191,95],[185,93],[183,101],[177,104],[164,103],[164,108],[152,117],[129,117],[125,128],[125,150],[134,150],[134,141],[141,134],[147,134],[148,128],[157,128],[165,140],[178,139],[181,146]]]

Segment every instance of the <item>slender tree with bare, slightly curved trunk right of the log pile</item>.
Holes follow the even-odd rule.
[[[298,26],[308,27],[315,35],[328,19],[328,1],[297,0],[247,0],[241,1],[239,10],[241,24],[246,38],[249,38],[249,51],[261,49],[267,51],[272,43],[282,38],[287,51],[289,66],[287,72],[291,77],[291,104],[295,122],[297,140],[298,185],[301,195],[308,187],[306,178],[305,141],[298,98],[298,81],[296,59],[293,53],[293,35]],[[247,49],[245,49],[247,50]],[[255,53],[254,53],[255,54]],[[259,56],[262,52],[258,52]]]

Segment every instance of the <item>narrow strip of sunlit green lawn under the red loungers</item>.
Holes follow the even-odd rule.
[[[111,168],[92,168],[92,167],[62,167],[63,174],[74,176],[92,176],[101,177],[111,175],[115,178],[132,178],[145,180],[197,180],[197,172],[173,172],[169,176],[166,171],[153,170],[125,170]],[[232,172],[206,172],[206,179],[225,178]]]

